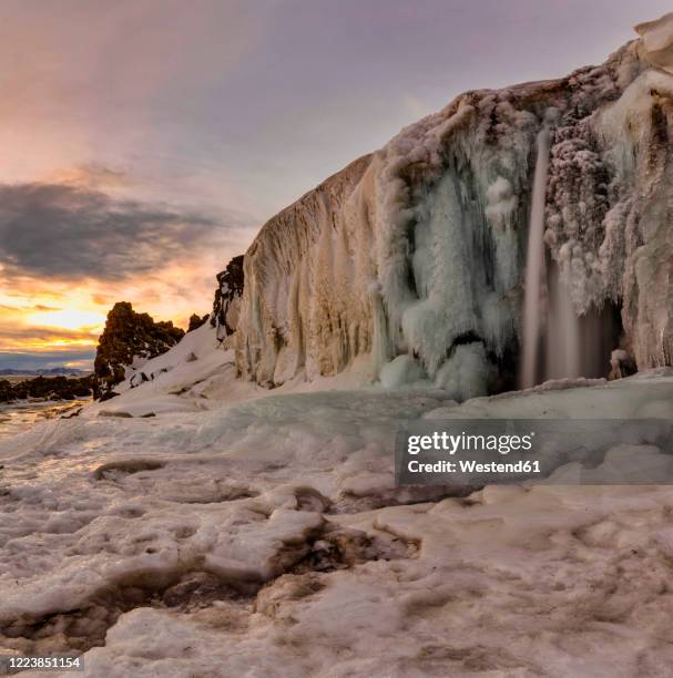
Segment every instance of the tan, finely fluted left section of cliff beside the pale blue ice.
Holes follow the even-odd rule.
[[[357,199],[370,162],[351,163],[284,209],[247,250],[236,332],[245,377],[275,384],[302,367],[336,372],[370,349],[370,302],[361,285],[374,280],[373,234],[368,205]]]

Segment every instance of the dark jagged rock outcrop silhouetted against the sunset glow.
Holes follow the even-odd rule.
[[[124,380],[125,368],[136,358],[155,358],[165,353],[183,337],[184,330],[173,322],[155,322],[149,314],[137,314],[128,301],[119,301],[108,314],[93,363],[93,394],[106,400],[113,388]]]

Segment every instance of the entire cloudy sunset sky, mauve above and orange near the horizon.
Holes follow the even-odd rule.
[[[469,89],[602,62],[654,0],[1,0],[0,370],[181,326],[266,219]]]

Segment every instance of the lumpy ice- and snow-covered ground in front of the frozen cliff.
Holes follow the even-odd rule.
[[[419,415],[670,418],[673,373],[269,396],[211,371],[205,335],[200,384],[177,358],[0,442],[2,654],[84,651],[96,678],[666,675],[673,489],[451,497],[396,489],[391,450]]]

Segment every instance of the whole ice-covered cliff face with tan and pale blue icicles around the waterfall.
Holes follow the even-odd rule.
[[[612,348],[639,369],[670,363],[673,22],[638,30],[603,65],[458,96],[272,218],[245,256],[239,372],[274,386],[366,355],[373,379],[458,397],[511,384],[543,126],[548,269],[575,316],[620,311]]]

